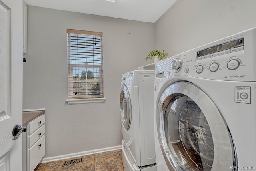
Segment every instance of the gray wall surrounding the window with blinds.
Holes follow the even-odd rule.
[[[66,29],[103,32],[105,103],[67,105]],[[46,155],[121,145],[121,75],[146,61],[154,24],[28,6],[23,109],[46,108]]]

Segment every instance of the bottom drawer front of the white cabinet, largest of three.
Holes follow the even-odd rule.
[[[28,149],[28,170],[33,171],[45,155],[45,135]]]

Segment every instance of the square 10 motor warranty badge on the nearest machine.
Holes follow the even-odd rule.
[[[235,86],[235,102],[251,104],[251,87]]]

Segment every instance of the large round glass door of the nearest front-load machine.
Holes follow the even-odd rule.
[[[196,85],[165,89],[156,113],[160,147],[170,170],[224,171],[235,165],[228,127],[213,101]]]

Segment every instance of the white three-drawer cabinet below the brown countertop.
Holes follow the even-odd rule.
[[[45,155],[45,115],[28,122],[23,135],[22,171],[34,171]],[[24,126],[24,125],[23,125]]]

